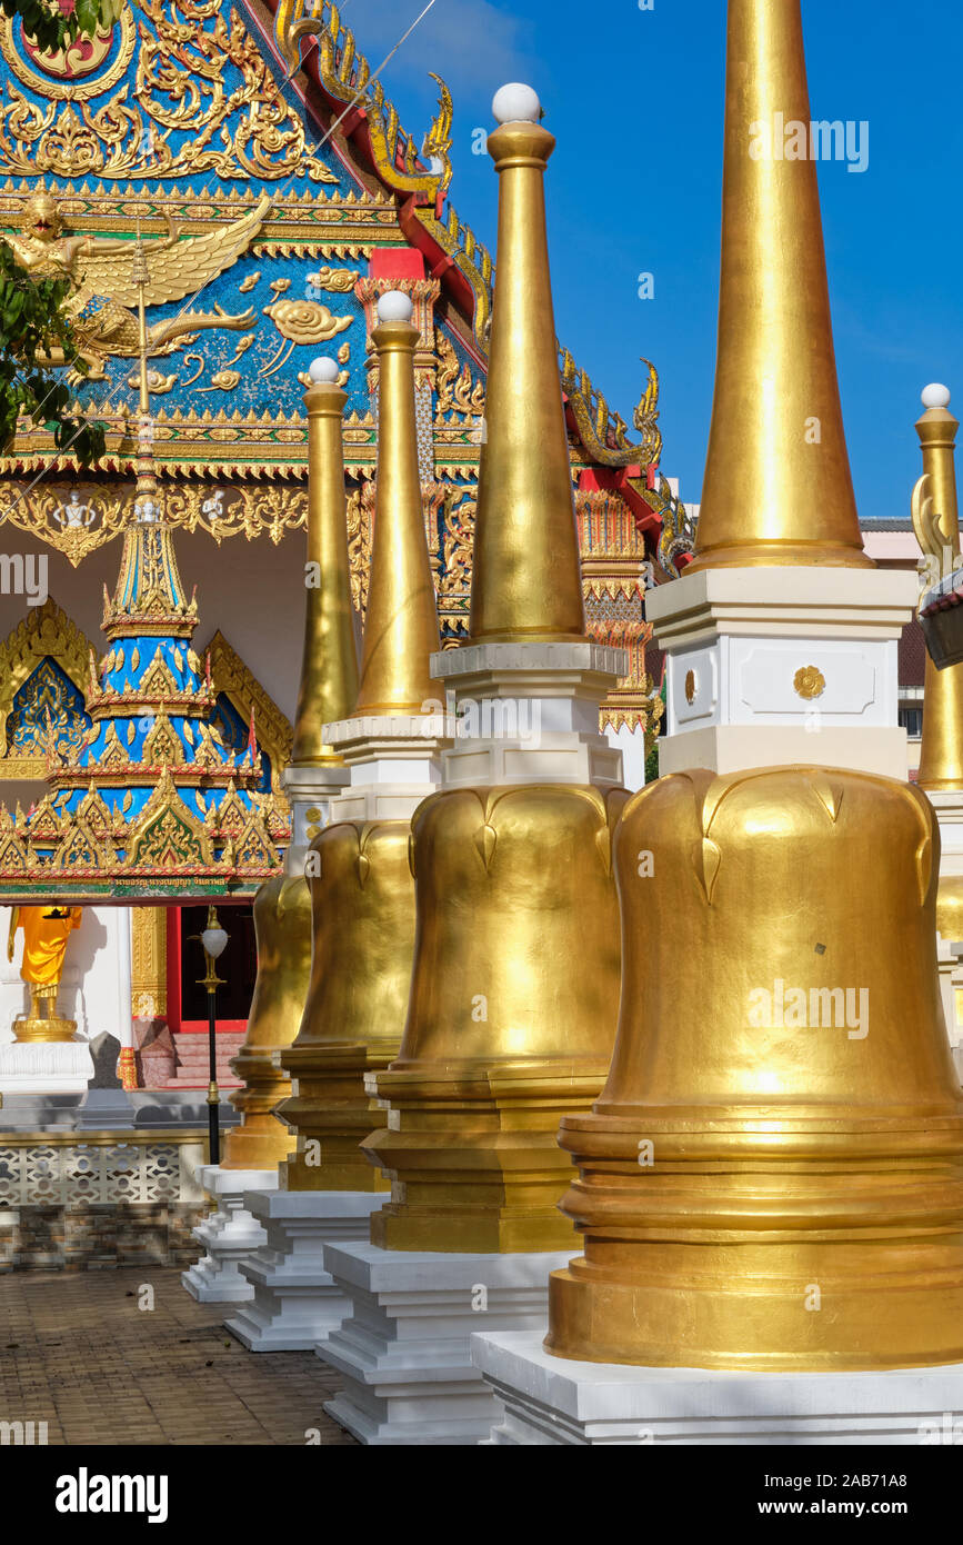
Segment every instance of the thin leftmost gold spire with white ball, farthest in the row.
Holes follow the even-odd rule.
[[[341,416],[346,392],[333,360],[315,360],[307,409],[307,615],[292,765],[338,763],[321,739],[324,725],[347,718],[358,695],[344,508]]]

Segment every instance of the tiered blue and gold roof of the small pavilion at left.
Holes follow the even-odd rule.
[[[111,647],[99,671],[90,655],[90,728],[63,746],[48,714],[49,793],[26,814],[0,806],[0,901],[253,895],[278,871],[286,806],[264,788],[253,715],[245,749],[225,743],[196,626],[171,531],[140,488],[105,595]]]

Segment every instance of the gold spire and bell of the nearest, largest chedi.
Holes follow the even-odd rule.
[[[745,153],[776,108],[807,117],[799,3],[730,0],[704,565],[858,561],[815,167]],[[835,482],[807,484],[765,406],[801,414],[796,379]],[[633,797],[614,864],[619,1034],[594,1111],[562,1122],[585,1255],[552,1273],[546,1347],[739,1370],[958,1361],[963,1091],[926,796],[835,768],[679,772]]]

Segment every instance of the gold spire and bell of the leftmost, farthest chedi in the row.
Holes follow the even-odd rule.
[[[310,366],[312,385],[304,394],[309,582],[298,717],[292,765],[286,769],[286,777],[295,776],[295,789],[301,769],[340,763],[340,757],[324,745],[323,729],[332,718],[350,712],[358,691],[341,439],[347,396],[335,385],[336,375],[333,360],[315,360]],[[307,881],[298,873],[301,862],[302,853],[292,844],[289,873],[267,881],[255,898],[258,980],[247,1038],[231,1063],[245,1085],[231,1095],[242,1123],[227,1136],[225,1170],[273,1168],[295,1142],[272,1112],[290,1095],[290,1078],[281,1068],[279,1052],[298,1034],[310,981],[312,907]]]

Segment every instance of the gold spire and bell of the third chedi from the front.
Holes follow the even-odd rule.
[[[361,684],[353,705],[360,743],[370,729],[392,757],[390,732],[438,695],[429,658],[438,649],[435,590],[424,536],[415,425],[412,303],[378,301],[372,343],[380,365],[378,482]],[[341,725],[341,729],[346,726]],[[409,732],[411,739],[411,732]],[[358,766],[361,776],[363,766]],[[411,806],[409,806],[411,808]],[[298,1149],[284,1166],[289,1191],[380,1191],[361,1140],[378,1120],[366,1075],[397,1055],[415,941],[409,819],[340,820],[309,856],[313,966],[304,1017],[284,1066],[296,1080],[284,1119]]]

